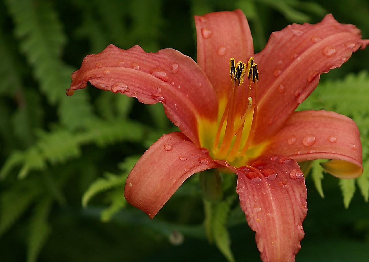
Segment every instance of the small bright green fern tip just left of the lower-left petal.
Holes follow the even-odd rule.
[[[126,179],[127,176],[118,176],[116,174],[106,173],[104,177],[98,178],[96,181],[94,181],[87,189],[85,194],[83,194],[82,206],[86,208],[90,199],[102,191],[123,186]],[[123,191],[121,194],[123,194]]]

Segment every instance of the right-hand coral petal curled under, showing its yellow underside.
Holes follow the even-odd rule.
[[[294,112],[270,140],[265,153],[282,154],[296,161],[332,159],[322,164],[336,177],[361,175],[362,149],[356,123],[325,110]]]

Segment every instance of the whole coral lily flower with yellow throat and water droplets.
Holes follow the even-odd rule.
[[[325,110],[294,110],[320,74],[340,67],[369,40],[328,14],[320,23],[272,33],[254,54],[241,10],[195,16],[195,23],[197,64],[173,49],[147,53],[138,45],[108,45],[83,59],[67,95],[89,81],[142,103],[162,103],[179,127],[137,161],[124,188],[128,203],[152,218],[192,174],[229,170],[238,176],[240,205],[256,231],[262,260],[294,261],[307,214],[297,162],[328,159],[323,168],[340,178],[362,173],[353,120]]]

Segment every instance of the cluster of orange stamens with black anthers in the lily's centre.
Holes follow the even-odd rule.
[[[245,90],[244,78],[247,73],[248,88]],[[235,63],[230,59],[232,88],[215,135],[212,154],[215,159],[229,162],[243,157],[251,144],[251,133],[255,129],[255,116],[258,104],[258,66],[251,57],[248,64]],[[252,83],[255,86],[254,103],[251,98]],[[239,90],[241,89],[241,90]],[[247,92],[247,93],[246,93]]]

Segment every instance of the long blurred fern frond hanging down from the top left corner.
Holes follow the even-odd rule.
[[[63,124],[76,128],[83,124],[80,115],[92,117],[87,94],[66,98],[74,71],[61,59],[65,35],[58,15],[49,1],[7,0],[8,10],[15,23],[15,34],[21,41],[21,50],[32,66],[42,92],[52,105],[60,103],[59,116]],[[73,108],[73,113],[68,112]]]

